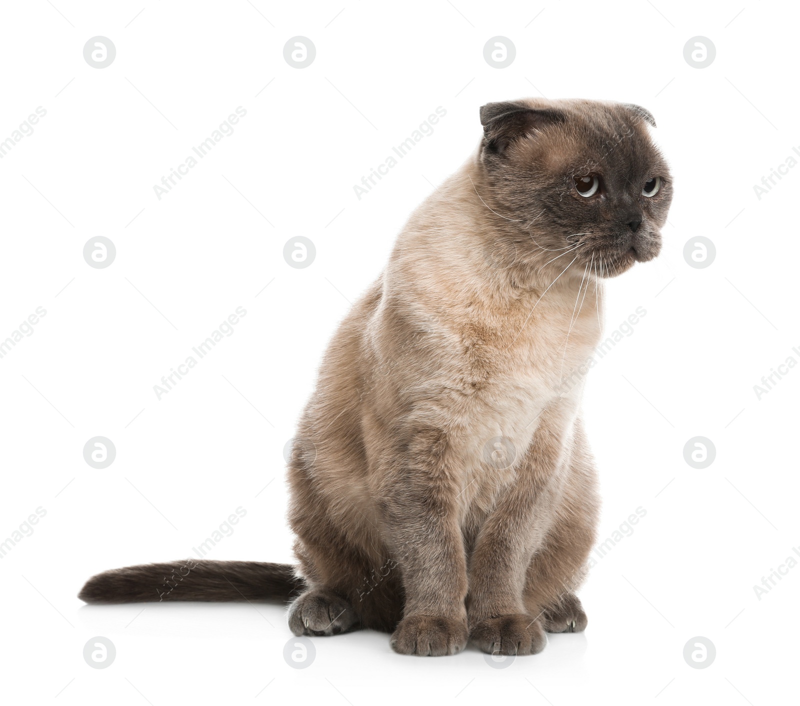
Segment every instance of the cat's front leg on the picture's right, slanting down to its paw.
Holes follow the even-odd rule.
[[[514,482],[498,498],[478,534],[470,565],[470,640],[484,652],[531,655],[547,644],[545,618],[526,601],[534,553],[558,516],[568,472],[565,427],[558,409],[540,417]]]

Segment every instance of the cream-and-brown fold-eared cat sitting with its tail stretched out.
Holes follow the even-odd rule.
[[[322,360],[288,464],[298,566],[122,568],[82,600],[280,599],[295,635],[372,628],[408,655],[529,655],[586,628],[584,366],[603,281],[661,249],[672,179],[641,106],[529,98],[480,118]]]

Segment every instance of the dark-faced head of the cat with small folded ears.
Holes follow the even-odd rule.
[[[481,123],[476,193],[517,264],[607,277],[658,255],[672,179],[647,110],[530,98],[483,106]]]

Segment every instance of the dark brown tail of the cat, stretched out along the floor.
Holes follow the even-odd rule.
[[[86,603],[163,600],[292,600],[306,588],[291,564],[259,561],[173,561],[111,569],[78,593]]]

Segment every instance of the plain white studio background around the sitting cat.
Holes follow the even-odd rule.
[[[0,338],[47,312],[0,359],[2,538],[46,510],[0,562],[2,692],[154,706],[796,698],[800,567],[761,600],[753,587],[800,545],[800,369],[760,400],[753,386],[800,360],[800,168],[760,200],[753,187],[800,149],[797,10],[141,2],[2,10],[0,140],[47,111],[0,160]],[[82,55],[96,35],[117,50],[102,70]],[[283,58],[295,35],[317,50],[302,70]],[[502,70],[483,58],[495,35],[517,50]],[[683,57],[696,35],[717,50],[700,70]],[[315,639],[300,671],[282,657],[276,605],[84,606],[88,576],[190,556],[237,507],[246,516],[209,558],[291,560],[282,449],[327,340],[410,212],[474,150],[478,107],[541,94],[646,106],[675,183],[662,255],[608,287],[609,331],[646,315],[586,387],[600,536],[646,510],[590,573],[586,633],[493,669],[471,648],[410,658],[358,632]],[[154,184],[237,106],[234,134],[159,201]],[[353,185],[437,106],[434,134],[359,201]],[[99,270],[82,257],[98,235],[117,248]],[[298,235],[317,248],[303,270],[282,258]],[[698,235],[717,249],[705,269],[682,255]],[[236,307],[234,334],[158,400],[154,384]],[[117,449],[105,470],[82,455],[97,435]],[[683,458],[698,435],[716,447],[704,470]],[[109,668],[84,662],[93,636],[114,642]],[[709,668],[683,659],[694,636],[716,647]]]

